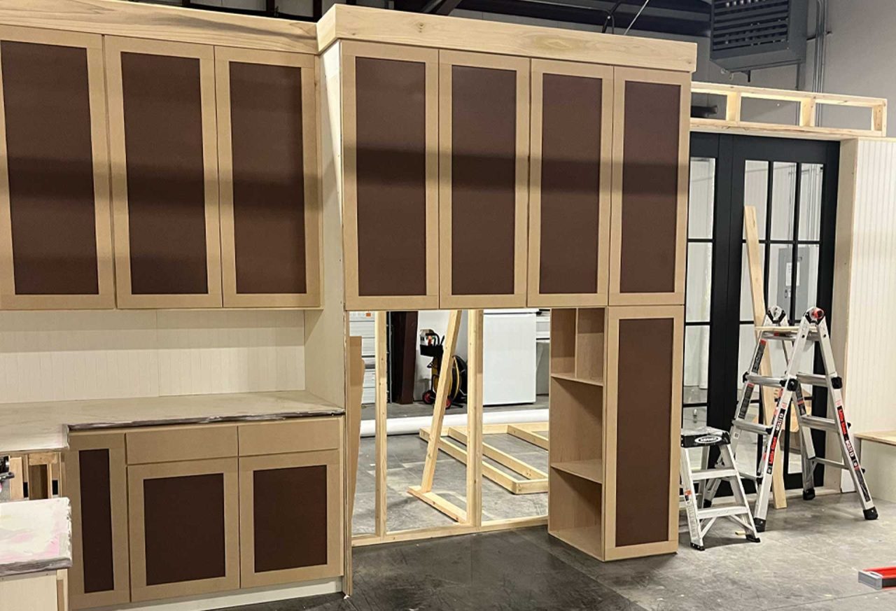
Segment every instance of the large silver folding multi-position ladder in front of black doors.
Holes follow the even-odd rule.
[[[771,307],[765,315],[765,322],[758,327],[756,348],[753,359],[750,361],[750,370],[744,374],[744,388],[741,391],[740,400],[737,403],[737,412],[731,424],[731,452],[730,456],[719,456],[718,465],[722,469],[737,468],[733,456],[737,456],[737,443],[740,435],[747,431],[761,435],[765,438],[762,459],[757,465],[755,473],[740,472],[740,477],[753,480],[756,483],[756,502],[754,504],[753,518],[758,532],[765,529],[765,516],[768,511],[769,495],[771,491],[771,473],[774,462],[781,447],[781,435],[784,432],[785,419],[791,401],[796,403],[797,423],[800,431],[800,454],[803,469],[803,499],[809,501],[815,496],[814,470],[818,465],[826,465],[837,469],[846,469],[856,486],[859,503],[866,520],[876,520],[877,510],[874,501],[868,492],[865,474],[858,463],[855,443],[849,433],[846,414],[843,409],[842,387],[843,381],[834,366],[833,352],[831,351],[831,338],[828,335],[828,326],[824,320],[824,312],[821,308],[812,307],[800,319],[798,326],[786,324],[786,314],[778,307]],[[769,341],[783,342],[784,354],[787,358],[787,371],[780,377],[759,375],[759,364]],[[805,374],[799,372],[799,360],[806,349],[813,348],[818,343],[821,348],[824,374]],[[834,417],[816,417],[806,413],[806,400],[803,397],[802,384],[820,386],[828,390],[828,403],[833,406]],[[779,390],[780,395],[775,401],[775,410],[771,418],[771,425],[750,422],[746,419],[747,409],[753,398],[756,386],[771,386]],[[768,409],[768,406],[766,406]],[[828,460],[815,454],[812,442],[812,430],[829,431],[836,435],[840,445],[842,461]],[[786,460],[786,457],[785,457]],[[712,499],[719,489],[720,480],[707,483],[703,495],[704,504],[711,504]]]

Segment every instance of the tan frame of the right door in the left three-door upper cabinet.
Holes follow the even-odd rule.
[[[220,177],[221,276],[224,307],[319,307],[321,305],[321,195],[318,172],[316,56],[235,47],[214,47],[218,108],[218,173]],[[230,62],[285,65],[301,69],[302,165],[305,174],[304,293],[237,293],[237,253],[233,211],[233,148],[230,132]]]

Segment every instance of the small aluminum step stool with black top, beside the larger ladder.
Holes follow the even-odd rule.
[[[740,482],[737,469],[732,467],[717,467],[715,469],[691,469],[691,461],[688,460],[687,451],[690,448],[702,448],[702,465],[705,467],[709,457],[709,449],[713,446],[719,448],[721,455],[728,464],[734,464],[731,454],[730,436],[727,431],[718,428],[703,426],[702,428],[683,430],[681,432],[681,489],[685,496],[685,508],[687,509],[687,528],[691,531],[691,546],[703,551],[703,537],[712,528],[718,518],[728,518],[746,532],[746,538],[759,543],[756,527],[753,521],[753,512],[750,504],[746,502],[744,486]],[[696,494],[695,482],[705,486],[707,481],[728,481],[734,491],[735,504],[722,507],[701,507],[701,499]]]

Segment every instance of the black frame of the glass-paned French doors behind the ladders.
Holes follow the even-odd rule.
[[[840,142],[811,140],[788,140],[762,136],[731,135],[722,133],[692,133],[691,157],[705,157],[716,160],[715,192],[712,219],[712,271],[710,304],[710,349],[709,349],[709,393],[707,396],[707,425],[724,430],[731,427],[737,404],[737,387],[741,374],[738,368],[740,332],[740,289],[742,241],[744,227],[745,162],[781,161],[797,164],[821,164],[822,178],[821,231],[819,235],[819,271],[816,305],[828,314],[830,324],[833,299],[834,239],[837,219],[837,188],[840,163]],[[798,174],[797,166],[797,174]],[[797,181],[797,202],[799,192]],[[768,199],[771,202],[772,176],[768,183]],[[766,215],[766,223],[771,223],[771,215]],[[766,232],[760,228],[760,232]],[[795,229],[793,242],[796,246],[798,231]],[[766,247],[768,247],[766,245]],[[797,248],[791,249],[796,258]],[[768,275],[769,257],[766,256],[765,274]],[[797,266],[791,272],[796,275]],[[796,286],[792,280],[791,286]],[[766,293],[768,288],[766,287]],[[768,303],[768,295],[765,295]],[[796,299],[791,298],[791,304]],[[794,306],[791,305],[791,309]],[[800,315],[802,313],[796,313]],[[793,315],[788,313],[788,315]],[[819,349],[815,349],[814,366],[821,367]],[[812,413],[827,416],[826,391],[815,388]],[[824,432],[813,431],[815,451],[824,456]],[[788,455],[789,438],[784,435],[785,452]],[[758,452],[758,450],[757,450]],[[816,486],[823,485],[823,468],[815,469]],[[785,478],[788,488],[802,487],[800,473],[788,474]],[[745,481],[747,492],[754,490],[753,482]]]

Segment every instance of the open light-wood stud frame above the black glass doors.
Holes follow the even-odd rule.
[[[745,133],[748,135],[812,138],[814,140],[881,138],[887,134],[887,100],[884,98],[745,87],[712,82],[692,83],[691,93],[724,96],[726,99],[724,119],[692,118],[692,132]],[[743,121],[741,120],[741,105],[745,98],[798,102],[799,125]],[[817,125],[816,110],[820,105],[871,108],[871,125],[869,129]]]

